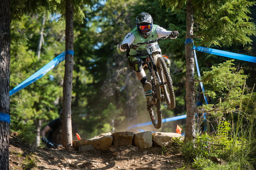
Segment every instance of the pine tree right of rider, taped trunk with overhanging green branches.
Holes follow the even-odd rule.
[[[186,39],[197,39],[205,46],[231,45],[234,42],[242,44],[250,43],[250,35],[255,35],[255,25],[248,17],[249,7],[255,1],[249,0],[221,0],[209,2],[205,0],[162,0],[167,8],[180,10],[186,4],[187,30]],[[194,19],[195,18],[195,19]],[[194,26],[196,24],[196,26]],[[194,28],[197,31],[194,32]],[[187,103],[187,123],[185,138],[195,137],[195,83],[194,83],[194,54],[192,44],[185,45],[186,55],[186,103]]]

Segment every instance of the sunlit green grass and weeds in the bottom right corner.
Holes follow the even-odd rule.
[[[245,96],[244,87],[245,81],[239,107],[218,117],[216,131],[198,133],[195,142],[182,142],[179,150],[187,167],[198,170],[256,168],[256,94],[251,92]],[[213,158],[220,159],[222,165],[214,163]]]

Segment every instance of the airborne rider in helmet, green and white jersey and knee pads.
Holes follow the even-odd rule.
[[[178,31],[166,31],[164,28],[159,25],[153,25],[153,19],[150,14],[146,12],[140,13],[136,18],[136,27],[129,32],[120,45],[120,50],[122,52],[127,52],[128,57],[128,66],[135,71],[137,78],[140,80],[146,99],[150,98],[152,95],[152,85],[147,81],[146,73],[143,69],[147,69],[146,65],[143,62],[146,60],[148,52],[146,50],[147,45],[141,45],[136,50],[130,49],[129,45],[135,43],[145,42],[149,39],[157,39],[169,35],[168,38],[176,39],[179,36]],[[163,57],[166,65],[169,69],[171,62],[168,58]],[[145,65],[145,66],[144,66]]]

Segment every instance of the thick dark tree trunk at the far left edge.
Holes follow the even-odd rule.
[[[9,170],[10,0],[0,3],[0,169]],[[4,119],[6,115],[7,120]]]

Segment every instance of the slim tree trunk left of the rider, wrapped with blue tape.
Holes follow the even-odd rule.
[[[74,50],[73,33],[73,14],[74,7],[71,0],[66,0],[66,50]],[[71,95],[74,57],[71,54],[65,56],[65,74],[63,81],[63,115],[62,115],[62,145],[68,148],[72,145],[72,126],[71,126]]]

